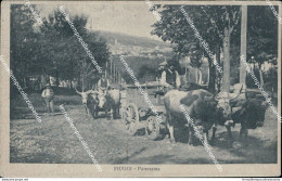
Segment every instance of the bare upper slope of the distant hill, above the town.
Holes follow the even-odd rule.
[[[157,41],[151,38],[145,37],[133,37],[120,33],[110,33],[110,31],[95,31],[100,37],[104,38],[107,43],[114,44],[117,40],[120,44],[124,46],[139,46],[143,48],[168,48],[170,44],[163,41]]]

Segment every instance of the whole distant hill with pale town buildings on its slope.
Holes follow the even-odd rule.
[[[123,54],[128,66],[133,70],[134,76],[141,83],[154,81],[158,64],[172,56],[172,49],[169,43],[154,40],[145,37],[133,37],[119,33],[94,31],[99,37],[105,39],[110,47],[112,61],[116,69],[121,74],[127,82],[132,82],[131,77],[127,73],[125,65],[120,62],[119,55]],[[158,48],[157,48],[158,47]],[[163,56],[157,56],[162,54]],[[148,77],[141,78],[141,67],[148,66],[152,73]]]

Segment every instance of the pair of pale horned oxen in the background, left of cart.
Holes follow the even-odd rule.
[[[107,119],[115,119],[119,115],[120,92],[117,89],[107,90],[106,93],[95,90],[88,90],[79,92],[82,98],[86,113],[92,115],[93,118],[98,117],[99,112],[105,112]],[[108,116],[110,113],[110,116]]]

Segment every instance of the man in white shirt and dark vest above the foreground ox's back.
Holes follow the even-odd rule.
[[[178,72],[175,69],[174,62],[169,62],[167,65],[168,68],[166,68],[162,73],[161,77],[161,83],[165,88],[165,91],[167,92],[170,89],[178,89],[180,87],[180,77]]]

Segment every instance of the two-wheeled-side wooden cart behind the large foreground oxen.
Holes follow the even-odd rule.
[[[134,135],[138,130],[144,128],[145,135],[151,140],[155,140],[159,137],[162,124],[165,122],[164,92],[157,91],[156,87],[142,86],[142,88],[144,92],[148,93],[157,114],[153,113],[149,107],[139,88],[132,86],[121,95],[121,104],[124,104],[121,118],[126,130],[128,130],[131,135]],[[162,117],[162,122],[156,118],[156,115]]]

